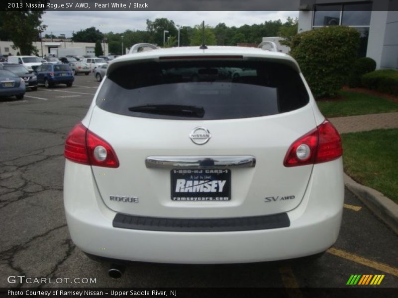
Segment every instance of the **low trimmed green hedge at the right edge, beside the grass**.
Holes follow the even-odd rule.
[[[380,70],[364,74],[361,83],[368,89],[398,95],[398,71]]]

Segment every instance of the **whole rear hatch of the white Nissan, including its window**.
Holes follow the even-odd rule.
[[[284,158],[316,126],[308,101],[297,70],[273,61],[112,68],[89,125],[119,161],[117,168],[92,166],[102,200],[119,213],[166,218],[292,210],[312,165],[285,167]]]

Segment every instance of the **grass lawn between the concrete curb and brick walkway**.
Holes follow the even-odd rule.
[[[398,203],[398,129],[342,134],[344,171]]]

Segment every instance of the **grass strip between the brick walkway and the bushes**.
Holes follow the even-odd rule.
[[[398,112],[398,102],[382,97],[353,91],[340,91],[340,95],[341,99],[316,102],[325,117]]]

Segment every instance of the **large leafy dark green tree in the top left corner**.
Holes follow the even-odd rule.
[[[43,4],[46,0],[21,0],[22,7],[25,7],[25,2]],[[1,39],[9,39],[13,42],[12,48],[19,49],[21,55],[31,55],[37,53],[36,47],[32,42],[37,39],[39,32],[43,32],[46,25],[42,24],[41,16],[43,10],[3,10],[0,11],[0,36]],[[11,33],[10,33],[11,32]]]

